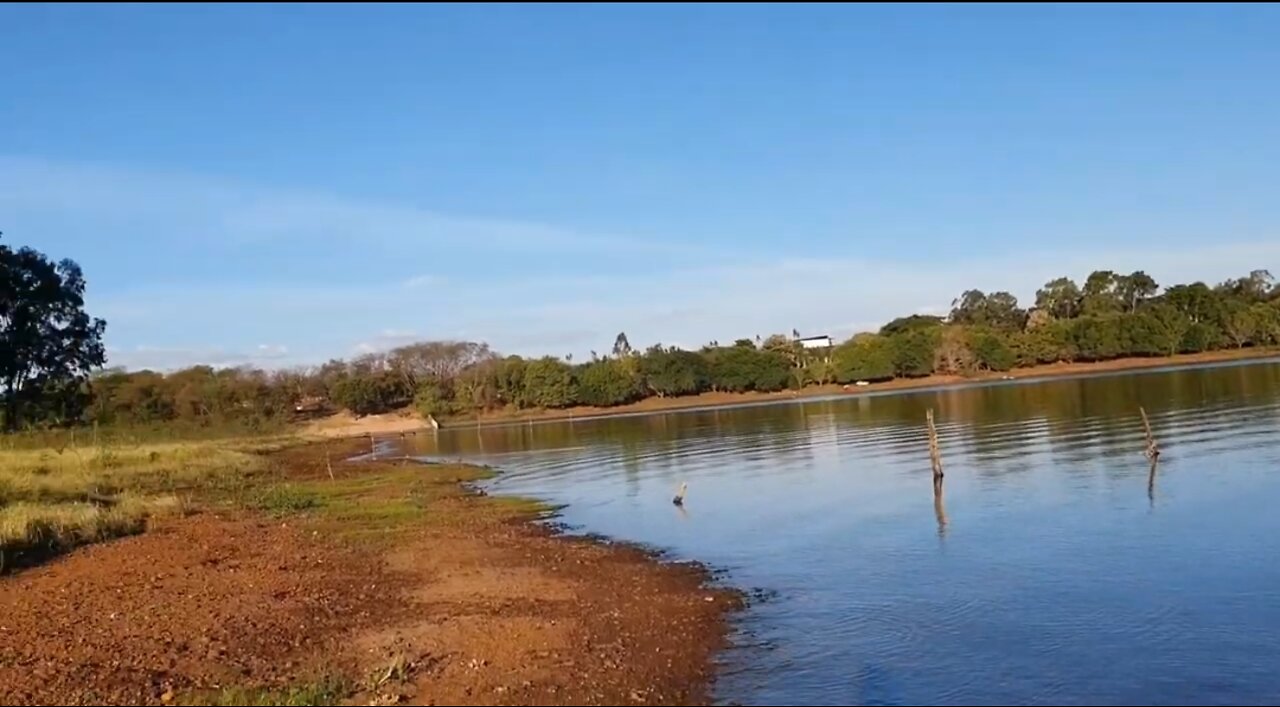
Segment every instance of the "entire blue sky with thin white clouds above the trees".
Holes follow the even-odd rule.
[[[111,362],[846,336],[1280,272],[1276,6],[0,6],[0,231]]]

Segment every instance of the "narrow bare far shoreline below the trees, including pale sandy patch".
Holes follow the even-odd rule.
[[[522,410],[518,412],[495,411],[476,418],[454,418],[444,420],[444,427],[506,425],[516,423],[552,423],[563,420],[582,420],[626,415],[644,415],[677,410],[704,407],[731,407],[735,405],[786,402],[814,397],[838,397],[879,393],[886,391],[913,391],[920,388],[948,388],[989,383],[1004,379],[1053,379],[1096,375],[1100,373],[1140,371],[1158,368],[1212,365],[1230,361],[1262,361],[1280,357],[1280,348],[1242,348],[1230,351],[1208,351],[1203,354],[1183,354],[1149,359],[1116,359],[1100,362],[1048,364],[1014,369],[1005,373],[984,373],[978,375],[928,375],[924,378],[896,378],[869,386],[812,386],[803,391],[782,391],[777,393],[701,393],[677,398],[646,398],[617,407],[570,407],[564,410]],[[352,437],[367,434],[399,434],[424,429],[421,419],[408,412],[370,415],[355,419],[351,415],[312,423],[307,433],[325,437]]]

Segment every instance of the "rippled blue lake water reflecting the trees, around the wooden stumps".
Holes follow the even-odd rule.
[[[1164,450],[1153,478],[1139,406]],[[493,491],[567,503],[563,520],[582,530],[767,590],[740,617],[722,702],[1280,701],[1275,362],[421,443],[499,466]],[[680,482],[684,510],[671,503]]]

